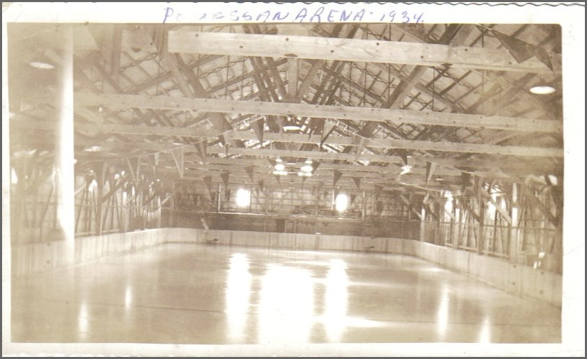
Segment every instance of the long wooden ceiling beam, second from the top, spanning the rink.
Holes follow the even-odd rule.
[[[468,115],[432,111],[392,110],[373,107],[292,104],[229,99],[171,97],[166,95],[125,95],[75,93],[76,106],[111,106],[132,109],[162,109],[173,111],[208,111],[211,113],[250,113],[258,115],[297,115],[312,118],[363,120],[374,122],[398,121],[414,125],[509,129],[562,134],[563,124],[554,120],[509,118],[501,116]]]

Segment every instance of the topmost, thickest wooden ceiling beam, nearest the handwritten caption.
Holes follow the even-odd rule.
[[[523,63],[517,63],[507,49],[297,35],[169,31],[169,51],[185,54],[295,56],[316,60],[424,66],[451,65],[479,70],[561,73],[561,56],[557,54],[551,54],[554,56],[553,71],[537,58],[529,58]]]

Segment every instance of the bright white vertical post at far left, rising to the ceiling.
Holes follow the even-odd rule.
[[[65,263],[74,260],[75,247],[75,197],[74,145],[73,145],[73,29],[65,26],[63,38],[63,63],[61,72],[61,113],[57,131],[57,156],[59,189],[57,214],[65,239]]]

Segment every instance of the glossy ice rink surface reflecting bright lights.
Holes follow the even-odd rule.
[[[163,244],[13,280],[13,342],[561,342],[561,309],[416,257]]]

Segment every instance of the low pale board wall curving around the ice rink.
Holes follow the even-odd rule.
[[[558,306],[561,306],[562,301],[563,278],[557,273],[533,269],[520,264],[511,264],[499,258],[435,246],[412,239],[327,234],[201,230],[195,228],[161,228],[104,234],[76,238],[72,263],[65,260],[63,241],[22,244],[12,248],[13,275],[19,277],[51,271],[108,255],[132,253],[135,250],[170,242],[414,255],[439,266],[467,274],[512,294],[535,298]]]

